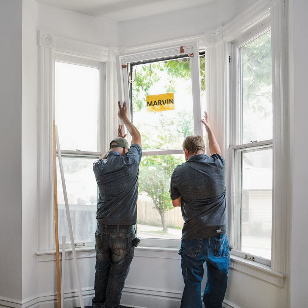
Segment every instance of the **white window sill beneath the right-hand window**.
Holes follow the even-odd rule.
[[[268,265],[245,260],[234,255],[230,255],[230,269],[253,276],[280,288],[284,287],[285,280],[288,277],[287,274],[272,270]]]

